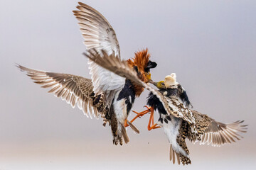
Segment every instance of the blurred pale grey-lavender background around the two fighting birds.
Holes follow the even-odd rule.
[[[149,48],[155,81],[176,72],[193,107],[215,120],[249,124],[223,147],[192,145],[192,164],[169,162],[161,129],[149,115],[112,145],[110,127],[47,94],[14,65],[90,78],[73,16],[78,1],[0,1],[0,169],[254,169],[256,142],[256,1],[82,1],[111,23],[123,59]],[[134,104],[143,111],[148,92]],[[129,119],[134,116],[130,113]],[[157,114],[156,114],[157,117]]]

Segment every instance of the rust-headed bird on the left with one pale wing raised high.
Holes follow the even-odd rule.
[[[84,44],[87,51],[105,52],[120,58],[119,42],[114,29],[100,12],[78,2],[78,11],[73,11],[79,21]],[[103,53],[102,53],[103,54]],[[134,57],[127,60],[129,67],[137,72],[139,79],[144,82],[151,80],[150,69],[156,67],[156,62],[149,60],[150,54],[146,49],[134,53]],[[133,84],[129,79],[119,77],[103,67],[99,67],[92,60],[88,60],[91,79],[72,74],[29,69],[17,64],[22,72],[43,88],[51,88],[50,93],[63,98],[73,107],[78,105],[85,115],[92,118],[103,118],[103,125],[109,123],[114,145],[129,142],[125,126],[130,126],[134,132],[139,130],[127,121],[134,99],[144,91],[143,86]]]

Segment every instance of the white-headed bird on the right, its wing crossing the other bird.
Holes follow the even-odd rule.
[[[178,164],[181,164],[181,162],[183,165],[191,164],[186,139],[193,143],[199,141],[200,144],[221,146],[242,139],[242,136],[239,135],[238,132],[247,132],[247,125],[242,124],[244,120],[226,124],[220,123],[210,118],[208,115],[188,108],[190,104],[188,104],[187,101],[185,104],[183,103],[182,95],[178,95],[178,93],[176,93],[176,95],[168,95],[170,86],[169,75],[164,81],[149,81],[149,83],[154,84],[158,88],[158,90],[153,89],[149,86],[149,83],[145,83],[139,79],[137,72],[134,72],[126,61],[120,60],[114,55],[107,55],[104,51],[101,53],[103,53],[103,55],[95,50],[91,50],[89,54],[85,54],[85,56],[110,72],[120,77],[125,77],[134,84],[143,86],[150,91],[147,100],[147,104],[150,108],[148,107],[146,111],[142,113],[137,113],[137,116],[131,120],[131,123],[136,118],[150,113],[148,129],[164,129],[166,137],[171,144],[169,159],[170,161],[172,160],[174,164],[176,159]],[[176,74],[171,74],[171,82],[176,82]],[[175,84],[178,85],[177,82]],[[172,85],[173,84],[171,84],[171,86]],[[188,99],[187,94],[185,98]],[[154,110],[159,111],[159,120],[157,123],[154,123]]]

